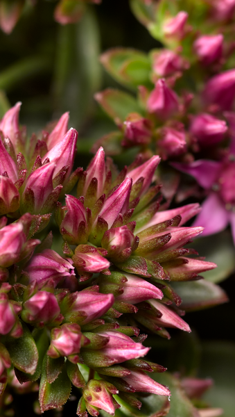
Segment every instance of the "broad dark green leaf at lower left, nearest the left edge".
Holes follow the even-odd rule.
[[[37,368],[38,352],[37,346],[28,327],[22,322],[24,334],[20,338],[8,336],[6,348],[10,354],[10,359],[15,368],[24,373],[33,375]]]

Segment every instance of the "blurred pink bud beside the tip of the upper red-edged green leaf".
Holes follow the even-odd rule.
[[[172,75],[187,68],[189,63],[170,49],[162,49],[153,54],[153,71],[158,76]]]

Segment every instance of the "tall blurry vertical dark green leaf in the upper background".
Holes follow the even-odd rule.
[[[96,17],[87,7],[78,24],[60,27],[55,60],[54,106],[70,112],[78,128],[94,111],[93,95],[100,88],[100,39]]]

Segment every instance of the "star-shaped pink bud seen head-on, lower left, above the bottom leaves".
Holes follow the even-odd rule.
[[[51,330],[51,345],[47,354],[53,359],[63,356],[73,361],[73,358],[78,358],[80,348],[88,343],[89,339],[80,332],[79,325],[67,323]]]

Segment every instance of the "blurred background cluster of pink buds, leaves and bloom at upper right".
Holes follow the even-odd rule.
[[[101,56],[105,70],[135,97],[111,88],[96,94],[119,130],[94,150],[102,145],[114,155],[135,147],[146,159],[159,154],[175,191],[181,178],[178,202],[208,196],[194,225],[207,235],[231,224],[235,241],[235,2],[131,0],[130,6],[162,46],[149,54],[119,47]]]

